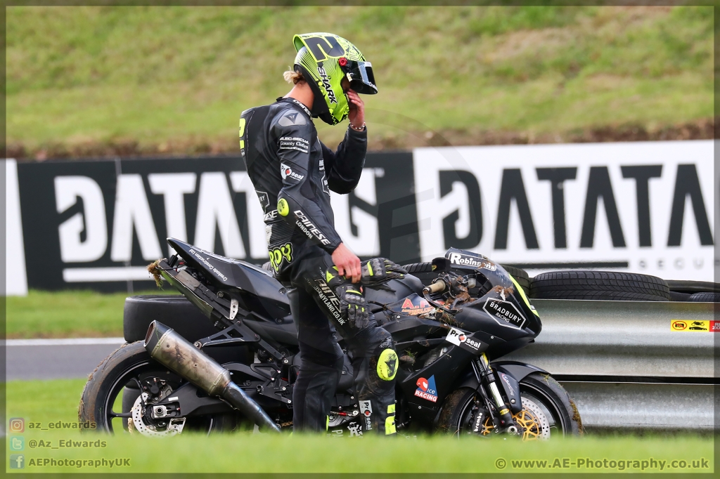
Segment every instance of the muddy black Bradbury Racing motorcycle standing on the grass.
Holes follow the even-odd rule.
[[[217,332],[190,342],[152,321],[144,341],[123,345],[91,374],[79,419],[108,432],[146,436],[292,431],[300,354],[286,288],[256,265],[177,239],[168,244],[176,254],[150,265],[151,272]],[[550,373],[501,359],[541,332],[539,314],[505,268],[452,248],[431,263],[405,268],[415,275],[365,288],[399,356],[398,434],[580,434],[577,408]],[[362,436],[364,409],[353,391],[352,358],[343,351],[328,434]]]

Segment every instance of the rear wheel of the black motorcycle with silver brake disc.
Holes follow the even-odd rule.
[[[209,434],[242,429],[245,425],[242,416],[233,412],[190,416],[174,422],[156,421],[145,414],[140,391],[152,389],[168,396],[185,382],[153,360],[142,341],[122,345],[89,376],[80,399],[78,419],[94,423],[99,431],[135,432],[147,436],[173,435],[184,430]],[[134,406],[138,408],[132,409]]]

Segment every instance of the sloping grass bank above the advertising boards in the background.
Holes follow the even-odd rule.
[[[371,147],[482,132],[652,130],[713,116],[712,7],[10,6],[7,141],[237,147],[240,111],[289,89],[292,33],[372,61]],[[318,123],[320,125],[320,123]],[[320,128],[339,140],[343,128]]]

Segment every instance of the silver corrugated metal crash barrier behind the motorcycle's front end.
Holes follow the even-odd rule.
[[[588,429],[712,429],[712,303],[532,301],[543,321],[534,344],[508,359],[557,376]],[[688,329],[672,331],[673,321]]]

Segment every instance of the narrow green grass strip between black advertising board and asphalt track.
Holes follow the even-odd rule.
[[[174,294],[143,291],[135,294]],[[6,334],[9,338],[121,337],[122,309],[127,293],[95,291],[30,291],[6,298]]]

